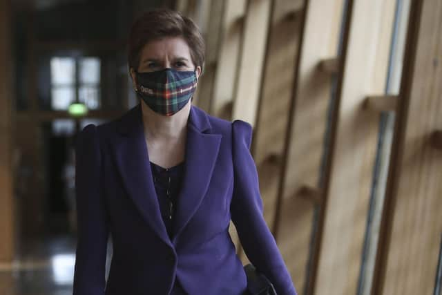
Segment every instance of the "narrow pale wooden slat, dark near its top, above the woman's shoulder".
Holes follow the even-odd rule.
[[[210,113],[231,120],[246,1],[226,0],[225,2]]]

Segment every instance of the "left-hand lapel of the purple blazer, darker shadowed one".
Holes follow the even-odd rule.
[[[122,117],[118,129],[122,137],[114,142],[114,158],[128,196],[148,225],[171,245],[153,184],[140,104]]]

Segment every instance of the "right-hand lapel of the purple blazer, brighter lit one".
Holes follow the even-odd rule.
[[[210,129],[211,125],[206,113],[191,106],[189,124],[187,125],[184,177],[180,193],[177,196],[174,239],[198,210],[207,189],[209,189],[222,138],[220,134],[204,133]]]

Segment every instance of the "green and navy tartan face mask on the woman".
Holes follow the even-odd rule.
[[[137,96],[156,113],[171,116],[189,102],[198,82],[195,71],[164,68],[136,73]]]

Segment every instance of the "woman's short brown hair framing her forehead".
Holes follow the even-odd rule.
[[[138,68],[140,53],[150,41],[165,37],[182,37],[191,52],[193,64],[204,66],[204,39],[196,24],[174,10],[160,8],[144,12],[135,19],[128,40],[128,66]]]

